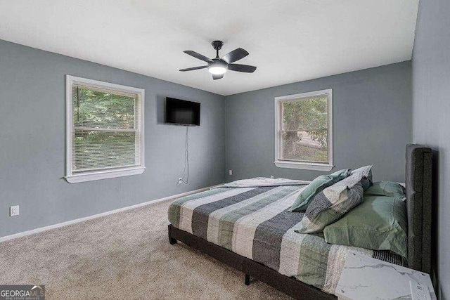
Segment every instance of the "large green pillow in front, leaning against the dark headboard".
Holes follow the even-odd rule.
[[[398,197],[368,196],[342,219],[323,229],[326,242],[390,250],[406,258],[406,204]]]

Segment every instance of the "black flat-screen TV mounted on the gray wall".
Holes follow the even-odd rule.
[[[166,97],[165,122],[200,126],[200,103]]]

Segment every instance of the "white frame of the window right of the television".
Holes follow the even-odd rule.
[[[283,116],[281,105],[285,102],[307,100],[320,96],[328,97],[328,163],[297,162],[293,160],[280,159],[282,153],[281,129],[283,128]],[[297,93],[295,95],[280,96],[275,98],[275,165],[280,168],[305,169],[316,171],[330,171],[333,169],[333,89],[312,91],[309,93]]]

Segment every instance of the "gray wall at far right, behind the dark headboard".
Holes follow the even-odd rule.
[[[450,1],[420,1],[413,50],[413,141],[434,148],[435,272],[440,299],[450,299]]]

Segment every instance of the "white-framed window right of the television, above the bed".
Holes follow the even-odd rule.
[[[275,98],[275,164],[333,169],[332,89]]]

